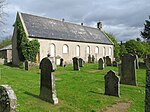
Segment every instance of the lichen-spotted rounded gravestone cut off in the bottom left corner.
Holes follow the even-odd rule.
[[[0,112],[16,112],[17,98],[8,85],[0,86]]]

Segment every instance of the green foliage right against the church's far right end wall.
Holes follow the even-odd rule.
[[[115,38],[115,36],[113,34],[108,34],[108,33],[105,33],[109,38],[110,40],[114,43],[114,57],[119,57],[119,52],[120,52],[120,47],[119,47],[119,44]]]

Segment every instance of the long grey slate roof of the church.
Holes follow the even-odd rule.
[[[113,44],[98,28],[21,13],[29,37]]]

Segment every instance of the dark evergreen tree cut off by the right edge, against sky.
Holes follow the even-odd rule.
[[[150,19],[150,17],[149,17],[149,19]],[[150,20],[145,20],[144,31],[141,32],[141,36],[145,40],[150,39]]]

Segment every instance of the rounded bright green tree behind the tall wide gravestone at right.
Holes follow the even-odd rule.
[[[139,41],[129,40],[125,43],[125,47],[128,53],[136,53],[139,57],[144,55],[144,46]]]

